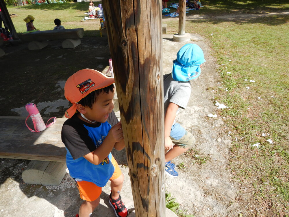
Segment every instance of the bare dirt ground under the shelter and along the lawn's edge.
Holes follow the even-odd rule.
[[[164,73],[171,72],[172,60],[185,44],[174,42],[172,38],[172,35],[163,35]],[[64,81],[79,69],[105,72],[108,67],[107,38],[83,38],[75,49],[62,49],[58,41],[49,43],[39,51],[29,51],[27,44],[1,47],[6,53],[0,58],[1,115],[26,116],[25,104],[34,102],[42,116],[62,117],[69,107],[63,96]],[[187,210],[187,214],[225,217],[238,216],[242,212],[243,216],[251,216],[252,207],[245,206],[252,200],[250,187],[239,186],[227,170],[232,138],[223,122],[225,117],[207,117],[211,113],[214,115],[217,109],[213,98],[214,88],[218,86],[218,65],[204,38],[191,35],[191,41],[187,43],[199,45],[206,62],[201,76],[191,82],[188,107],[178,114],[177,122],[191,131],[197,142],[194,148],[173,160],[179,166],[179,177],[166,176],[166,190],[181,204],[181,209]],[[132,211],[134,204],[125,152],[115,152],[114,155],[125,174],[121,195]],[[75,216],[81,200],[69,174],[59,186],[25,184],[21,172],[28,163],[28,160],[0,159],[1,216]],[[109,185],[103,188],[101,205],[92,217],[114,216],[108,208],[108,194]]]

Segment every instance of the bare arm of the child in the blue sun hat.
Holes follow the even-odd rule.
[[[170,102],[166,109],[166,116],[164,117],[164,147],[165,150],[173,148],[174,144],[170,138],[171,128],[176,117],[176,112],[179,106],[175,103]]]

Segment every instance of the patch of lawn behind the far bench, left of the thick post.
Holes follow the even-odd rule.
[[[94,1],[97,6],[101,1]],[[79,3],[54,3],[54,4],[41,4],[41,5],[27,5],[20,7],[8,6],[10,14],[17,14],[12,18],[14,27],[17,33],[26,31],[26,23],[23,21],[27,15],[32,15],[35,18],[34,26],[39,30],[53,30],[55,27],[54,19],[61,20],[61,25],[66,29],[84,28],[84,36],[100,36],[99,32],[99,19],[87,20],[80,22],[84,14],[88,12],[89,2]]]

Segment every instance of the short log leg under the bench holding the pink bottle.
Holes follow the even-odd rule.
[[[59,185],[65,173],[65,162],[30,161],[22,172],[22,179],[28,184]]]

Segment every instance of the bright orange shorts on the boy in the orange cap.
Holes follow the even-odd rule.
[[[117,179],[121,176],[121,169],[119,168],[116,160],[112,156],[111,162],[114,165],[114,173],[110,177],[110,180]],[[85,201],[95,201],[101,194],[101,187],[97,186],[93,182],[88,181],[75,181],[77,188],[79,190],[79,196],[82,200]]]

